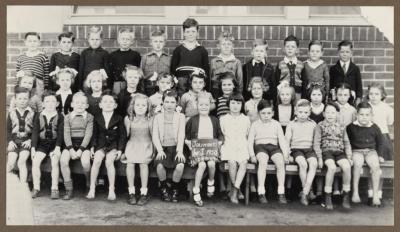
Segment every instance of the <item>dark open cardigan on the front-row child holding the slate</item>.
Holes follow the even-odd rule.
[[[213,125],[213,138],[223,141],[224,137],[222,135],[221,126],[219,124],[218,118],[210,115],[211,123]],[[199,115],[195,115],[189,119],[186,123],[186,139],[192,140],[198,138],[199,133]]]

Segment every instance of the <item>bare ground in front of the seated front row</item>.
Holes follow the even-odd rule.
[[[327,212],[319,205],[304,207],[298,202],[287,206],[270,202],[233,205],[206,201],[203,208],[182,201],[178,204],[152,198],[146,206],[126,203],[126,194],[116,202],[97,194],[94,201],[84,198],[83,190],[71,201],[50,200],[49,193],[33,200],[34,220],[39,225],[393,225],[393,201],[384,208],[353,206],[350,211],[337,207]]]

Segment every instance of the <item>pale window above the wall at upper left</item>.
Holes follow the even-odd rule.
[[[75,6],[75,15],[163,15],[164,6]]]

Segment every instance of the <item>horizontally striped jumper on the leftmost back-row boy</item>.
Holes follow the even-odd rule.
[[[36,78],[44,82],[45,89],[49,86],[49,67],[49,59],[43,53],[33,57],[22,54],[17,58],[17,72],[20,70],[31,70]]]

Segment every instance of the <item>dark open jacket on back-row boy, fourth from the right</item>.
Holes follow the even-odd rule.
[[[253,59],[250,59],[243,65],[243,97],[247,101],[251,98],[251,91],[248,91],[250,80],[253,77]],[[276,82],[275,82],[274,67],[265,60],[261,77],[264,84],[268,84],[268,90],[264,92],[263,98],[266,100],[276,101]]]

